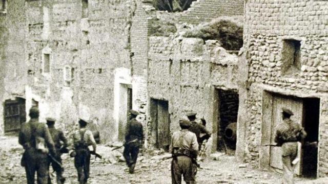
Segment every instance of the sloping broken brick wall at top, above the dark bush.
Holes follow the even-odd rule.
[[[192,3],[191,8],[182,12],[180,21],[199,24],[219,16],[242,16],[243,7],[242,0],[198,0]]]

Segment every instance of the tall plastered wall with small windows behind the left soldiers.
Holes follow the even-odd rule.
[[[117,139],[114,70],[130,68],[130,27],[134,1],[29,1],[26,47],[29,99],[40,100],[40,119],[54,116],[71,129],[86,118],[104,141]],[[43,54],[50,53],[50,72]],[[26,71],[27,72],[27,71]]]

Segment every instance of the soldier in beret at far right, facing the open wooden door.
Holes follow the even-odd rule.
[[[306,132],[301,125],[293,122],[290,117],[293,112],[289,109],[282,108],[283,123],[277,126],[275,142],[281,146],[281,156],[283,165],[283,184],[294,183],[294,165],[293,160],[297,156],[297,142],[304,140]]]

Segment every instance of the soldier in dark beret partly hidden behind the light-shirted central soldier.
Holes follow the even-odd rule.
[[[201,144],[203,141],[210,139],[211,133],[206,129],[206,127],[202,124],[197,123],[196,120],[196,114],[195,112],[187,113],[187,117],[189,121],[191,122],[191,126],[189,127],[189,131],[196,134],[197,137],[197,143],[198,143],[198,150],[200,150]],[[204,133],[202,136],[202,139],[200,138],[200,133]]]

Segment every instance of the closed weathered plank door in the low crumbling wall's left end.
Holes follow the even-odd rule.
[[[152,138],[157,148],[169,151],[170,135],[170,114],[169,102],[165,100],[151,99],[152,117]]]

